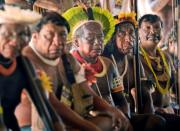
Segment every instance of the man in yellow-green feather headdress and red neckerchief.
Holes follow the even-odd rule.
[[[108,39],[108,37],[113,33],[114,18],[104,9],[97,7],[90,9],[92,10],[91,17],[85,14],[81,7],[77,7],[79,13],[73,15],[72,18],[68,17],[68,13],[74,13],[73,10],[76,10],[76,8],[72,8],[64,14],[64,16],[69,19],[69,22],[72,21],[70,25],[73,30],[70,34],[72,34],[71,37],[74,38],[74,47],[77,47],[72,50],[72,55],[84,67],[85,77],[91,88],[112,106],[114,106],[112,95],[118,95],[118,108],[120,108],[125,114],[128,114],[128,105],[125,97],[123,96],[124,88],[119,86],[116,74],[118,72],[116,72],[110,59],[100,56],[103,50],[104,39]],[[98,10],[103,13],[98,13]],[[82,15],[83,13],[84,15],[81,16],[82,19],[78,19],[77,21],[72,20],[75,19],[78,14]],[[93,18],[94,20],[83,19],[87,17],[88,19]],[[103,25],[103,19],[101,18],[107,20],[108,24]],[[101,25],[103,25],[103,29]],[[103,30],[104,32],[106,31],[105,34],[103,33]]]

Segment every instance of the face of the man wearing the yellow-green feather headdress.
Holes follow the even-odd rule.
[[[99,24],[88,23],[82,27],[83,34],[77,38],[78,50],[86,58],[96,58],[103,51],[103,31]]]

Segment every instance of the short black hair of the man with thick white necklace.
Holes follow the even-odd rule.
[[[33,30],[39,32],[42,29],[43,25],[45,25],[49,22],[51,22],[57,26],[65,26],[67,28],[68,32],[70,32],[69,23],[67,22],[67,20],[63,16],[61,16],[57,12],[46,12],[46,13],[44,13],[41,20],[35,24]]]

